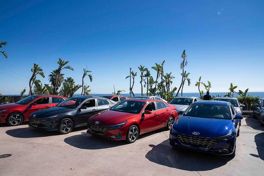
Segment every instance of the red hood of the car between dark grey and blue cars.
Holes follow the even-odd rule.
[[[98,121],[99,122],[98,125],[110,126],[110,125],[117,125],[136,116],[139,115],[108,110],[92,116],[91,118],[89,118],[89,122],[95,123],[96,121]]]

